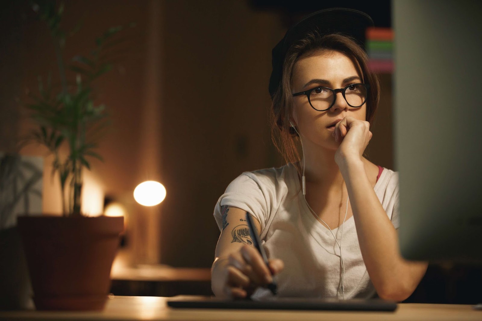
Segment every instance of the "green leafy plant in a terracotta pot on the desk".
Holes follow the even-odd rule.
[[[123,230],[122,217],[85,217],[80,211],[82,171],[90,169],[99,131],[107,124],[103,105],[94,104],[93,83],[111,70],[106,49],[119,40],[122,27],[95,39],[88,55],[63,58],[67,34],[60,27],[63,5],[33,4],[54,39],[60,84],[39,77],[38,94],[29,94],[28,119],[35,128],[27,142],[43,145],[53,155],[53,175],[62,192],[62,216],[18,217],[37,309],[100,310],[110,288],[110,268]]]

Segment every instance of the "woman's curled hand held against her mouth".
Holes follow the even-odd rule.
[[[338,165],[351,160],[361,160],[368,142],[372,139],[370,123],[346,116],[335,125],[335,139],[340,147],[335,152],[335,162]]]

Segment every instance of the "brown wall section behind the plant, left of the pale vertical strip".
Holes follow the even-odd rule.
[[[22,1],[18,1],[22,2]],[[113,5],[115,4],[115,5]],[[54,47],[46,27],[38,23],[29,13],[27,6],[16,5],[8,14],[9,26],[2,28],[0,59],[1,77],[1,128],[0,149],[13,150],[19,133],[25,133],[27,126],[19,121],[19,107],[16,98],[26,99],[25,91],[37,90],[37,75],[46,77],[53,71],[53,82],[58,82],[58,72],[54,58]],[[22,17],[22,14],[26,17]],[[6,12],[4,14],[7,15]],[[100,154],[104,163],[92,161],[93,174],[100,181],[107,194],[119,195],[133,189],[138,162],[139,109],[144,96],[145,49],[145,1],[67,1],[64,17],[66,28],[72,29],[79,20],[83,21],[81,31],[72,39],[67,39],[65,57],[86,53],[93,48],[95,37],[108,27],[126,24],[131,21],[137,27],[128,32],[131,49],[124,51],[121,63],[116,70],[99,79],[97,103],[105,103],[112,116],[112,126],[101,142]],[[95,23],[93,23],[95,22]],[[6,23],[6,22],[4,22]],[[3,37],[5,36],[5,37]],[[14,111],[14,112],[13,112]],[[13,115],[12,123],[3,115]],[[6,127],[5,125],[9,126]],[[5,127],[4,127],[5,126]],[[28,146],[24,154],[45,155],[45,150]],[[46,164],[51,162],[50,159]],[[50,169],[44,176],[43,211],[60,213],[57,186],[51,184]],[[56,180],[54,181],[56,182]],[[135,186],[134,186],[135,187]]]

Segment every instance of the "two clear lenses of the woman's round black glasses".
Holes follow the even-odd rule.
[[[325,88],[316,88],[309,94],[309,101],[313,108],[318,110],[328,109],[335,99],[333,91]],[[360,107],[366,100],[366,88],[360,84],[348,86],[345,99],[351,107]]]

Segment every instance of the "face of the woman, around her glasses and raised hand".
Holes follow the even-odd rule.
[[[292,92],[304,92],[316,87],[345,88],[353,83],[363,83],[353,62],[344,54],[325,50],[302,56],[295,63]],[[327,128],[335,120],[341,120],[345,116],[358,120],[366,119],[366,102],[361,107],[350,107],[342,93],[336,94],[335,104],[325,111],[313,109],[306,95],[295,96],[293,100],[292,117],[303,142],[308,140],[320,147],[336,150],[341,144],[332,136],[333,128]]]

